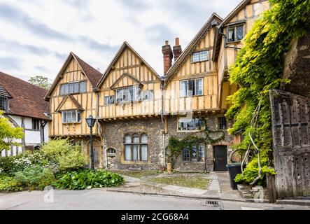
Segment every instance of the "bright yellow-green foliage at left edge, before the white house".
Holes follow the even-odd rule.
[[[3,150],[9,150],[10,146],[19,146],[16,139],[21,139],[23,136],[22,127],[13,127],[0,111],[0,153]]]

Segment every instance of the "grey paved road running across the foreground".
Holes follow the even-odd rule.
[[[54,202],[52,200],[52,194]],[[47,202],[45,202],[47,201]],[[112,210],[220,210],[220,209],[310,209],[293,205],[256,204],[245,202],[218,202],[206,204],[206,200],[180,197],[162,197],[115,193],[106,190],[53,190],[52,192],[20,192],[0,194],[0,210],[4,209],[112,209]]]

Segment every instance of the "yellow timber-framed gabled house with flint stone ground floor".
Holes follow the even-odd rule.
[[[226,131],[226,99],[237,91],[227,80],[228,67],[267,9],[268,1],[241,1],[225,19],[213,13],[184,50],[178,38],[173,48],[166,41],[162,76],[127,42],[103,74],[70,53],[45,96],[50,138],[83,142],[90,153],[85,118],[92,115],[95,167],[160,169],[170,137],[203,137],[201,130],[208,127],[225,135],[213,144],[184,148],[175,168],[226,170],[232,144],[241,138]]]

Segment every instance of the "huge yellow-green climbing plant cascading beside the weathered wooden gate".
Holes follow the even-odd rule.
[[[310,0],[269,0],[270,10],[258,19],[244,39],[236,63],[230,68],[230,83],[239,90],[228,97],[232,105],[226,117],[234,121],[230,134],[242,132],[241,153],[253,155],[237,181],[263,184],[265,174],[274,174],[269,89],[289,83],[282,77],[290,42],[309,29]],[[252,138],[252,139],[251,139]]]

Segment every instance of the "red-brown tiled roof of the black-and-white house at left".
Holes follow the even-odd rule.
[[[9,99],[10,114],[49,119],[44,115],[48,111],[48,102],[44,100],[47,90],[1,71],[0,85],[12,97]]]

